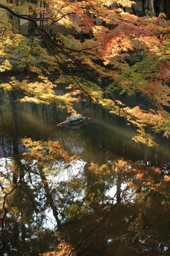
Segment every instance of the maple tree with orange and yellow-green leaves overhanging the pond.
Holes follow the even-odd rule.
[[[17,66],[38,76],[32,83],[29,78],[18,81],[11,77],[7,81],[0,76],[0,86],[19,91],[21,102],[54,102],[71,113],[76,113],[73,102],[81,100],[77,96],[84,93],[99,108],[108,110],[112,118],[135,126],[136,142],[154,145],[152,131],[168,137],[170,22],[166,16],[139,17],[124,12],[122,8],[135,4],[130,0],[46,0],[44,6],[42,2],[38,5],[40,2],[28,1],[27,9],[23,3],[0,3],[1,73]],[[29,37],[17,31],[13,17],[28,22]],[[54,38],[52,30],[57,24],[84,33],[88,39],[80,41],[61,34]],[[35,31],[41,39],[34,36]],[[130,51],[142,55],[142,61],[132,67],[126,61]],[[75,69],[78,73],[73,72]],[[58,75],[56,83],[50,80],[51,72]],[[105,79],[107,85],[101,82]],[[71,91],[57,95],[55,87],[59,83]],[[150,102],[150,108],[130,108],[113,92],[139,93]]]

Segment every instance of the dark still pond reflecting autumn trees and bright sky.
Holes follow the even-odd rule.
[[[0,92],[2,255],[170,255],[169,140],[137,144],[90,99],[57,127],[66,111],[17,97]]]

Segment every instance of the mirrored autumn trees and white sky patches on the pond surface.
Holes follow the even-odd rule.
[[[75,172],[58,142],[23,145],[1,163],[4,255],[168,255],[166,170],[119,159]]]

